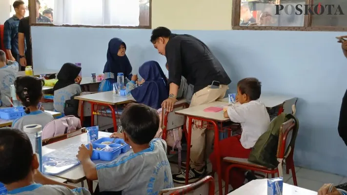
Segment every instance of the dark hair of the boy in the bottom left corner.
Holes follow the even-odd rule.
[[[0,182],[11,184],[28,176],[33,160],[29,137],[18,129],[0,130]]]

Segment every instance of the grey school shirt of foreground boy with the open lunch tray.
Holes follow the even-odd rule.
[[[166,143],[153,139],[149,148],[131,153],[120,160],[96,165],[100,192],[119,192],[122,195],[155,195],[172,188],[170,163]]]

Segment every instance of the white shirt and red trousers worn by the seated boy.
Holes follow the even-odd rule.
[[[252,147],[257,142],[258,138],[263,135],[270,124],[270,117],[267,113],[265,104],[259,100],[253,100],[248,103],[235,103],[227,109],[228,116],[233,122],[241,124],[242,134],[223,139],[219,142],[220,155],[224,157],[248,158]],[[216,157],[214,152],[209,157],[212,163],[212,169],[217,170]],[[222,162],[222,178],[226,166],[229,163]],[[241,187],[245,181],[245,172],[239,169],[231,170],[230,184],[233,189]]]

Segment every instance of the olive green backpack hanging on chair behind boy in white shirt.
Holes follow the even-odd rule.
[[[294,145],[293,142],[296,139],[298,132],[297,129],[299,127],[298,120],[292,114],[282,113],[271,121],[267,131],[259,137],[248,157],[249,162],[263,165],[268,168],[276,168],[278,166],[279,162],[276,155],[280,128],[281,125],[290,118],[293,118],[296,122],[296,130],[293,131],[292,139],[289,143],[290,145]],[[286,154],[288,150],[290,150],[289,147],[287,148]]]

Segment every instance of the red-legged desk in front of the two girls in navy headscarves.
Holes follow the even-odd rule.
[[[115,105],[120,105],[124,103],[131,103],[134,102],[133,100],[129,100],[125,96],[113,96],[112,91],[108,92],[101,92],[101,93],[95,93],[95,94],[88,94],[83,96],[77,96],[75,99],[78,99],[81,101],[81,113],[83,113],[83,101],[87,101],[91,104],[91,126],[94,126],[94,115],[98,115],[98,111],[95,111],[95,105],[99,106],[106,106],[109,107],[111,110],[112,118],[113,118],[113,124],[114,124],[114,130],[117,131],[117,120],[116,120],[116,113],[114,110]],[[83,124],[83,115],[81,115],[81,123]]]

